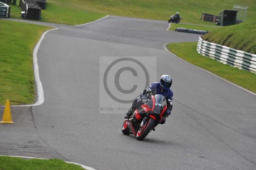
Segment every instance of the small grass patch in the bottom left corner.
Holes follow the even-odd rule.
[[[68,164],[60,159],[24,159],[0,156],[1,170],[84,170],[79,165]]]

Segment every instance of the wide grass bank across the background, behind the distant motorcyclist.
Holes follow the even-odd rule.
[[[19,0],[18,0],[19,1]],[[19,2],[17,2],[19,4]],[[44,22],[77,25],[101,18],[105,15],[118,15],[134,18],[168,20],[179,11],[181,22],[204,25],[214,23],[201,21],[202,13],[218,15],[223,9],[232,9],[240,0],[47,0],[46,10],[42,10]],[[244,0],[248,5],[247,19],[256,15],[255,0]],[[18,9],[16,9],[18,8]],[[12,10],[14,9],[14,10]],[[11,17],[20,18],[20,9],[12,5]]]

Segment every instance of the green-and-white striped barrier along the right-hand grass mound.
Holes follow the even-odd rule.
[[[204,41],[201,36],[197,43],[197,52],[232,67],[256,73],[256,55],[236,50],[224,45]]]

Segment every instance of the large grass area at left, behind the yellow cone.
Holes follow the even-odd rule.
[[[32,104],[35,84],[32,52],[41,34],[50,29],[0,20],[0,104]]]

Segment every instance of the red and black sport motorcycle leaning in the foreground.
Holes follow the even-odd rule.
[[[135,109],[130,119],[125,119],[122,127],[124,135],[135,135],[137,140],[143,140],[149,132],[155,131],[163,118],[168,117],[165,112],[169,101],[163,95],[151,96],[146,104]]]

